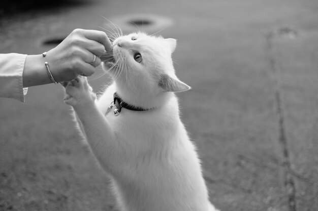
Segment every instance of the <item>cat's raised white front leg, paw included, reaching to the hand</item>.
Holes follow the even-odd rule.
[[[96,95],[84,77],[77,77],[64,85],[64,101],[73,107],[93,154],[105,170],[113,172],[110,166],[116,165],[120,149],[110,123],[94,102]]]

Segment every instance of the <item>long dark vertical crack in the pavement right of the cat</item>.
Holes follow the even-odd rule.
[[[278,74],[278,68],[276,65],[276,59],[273,54],[273,38],[275,37],[274,31],[269,31],[265,34],[266,38],[266,54],[267,61],[270,66],[270,70],[272,73],[272,80],[275,83],[275,101],[276,101],[276,109],[278,115],[278,133],[279,138],[278,142],[281,146],[282,156],[283,156],[283,174],[284,174],[284,189],[288,195],[288,207],[289,211],[297,211],[296,205],[296,187],[294,177],[291,174],[292,171],[292,163],[290,158],[290,152],[288,148],[288,139],[286,136],[286,128],[285,128],[285,119],[283,112],[283,102],[281,97],[281,89],[280,89],[280,77]]]

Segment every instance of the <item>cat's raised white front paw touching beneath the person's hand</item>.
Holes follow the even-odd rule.
[[[71,106],[92,103],[96,100],[96,94],[92,92],[86,77],[78,76],[74,80],[62,82],[65,87],[64,102]]]

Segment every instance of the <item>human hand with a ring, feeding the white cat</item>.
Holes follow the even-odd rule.
[[[92,75],[94,67],[101,63],[100,57],[111,49],[112,44],[105,32],[75,29],[57,47],[47,52],[45,60],[56,81],[69,81],[78,75]]]

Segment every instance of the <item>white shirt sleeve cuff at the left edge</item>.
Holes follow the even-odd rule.
[[[0,97],[24,102],[27,88],[23,88],[22,74],[25,54],[0,54]]]

